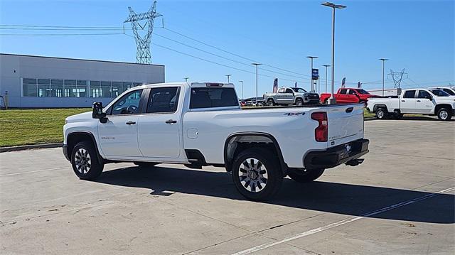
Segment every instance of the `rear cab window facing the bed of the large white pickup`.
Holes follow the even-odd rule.
[[[233,88],[194,87],[191,89],[191,109],[238,106],[239,102]]]

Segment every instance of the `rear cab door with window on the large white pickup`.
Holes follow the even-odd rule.
[[[139,116],[138,126],[139,149],[144,157],[180,156],[181,111],[177,109],[181,90],[178,86],[150,89],[146,112]]]

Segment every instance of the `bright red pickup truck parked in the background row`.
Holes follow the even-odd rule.
[[[319,96],[321,99],[321,103],[327,104],[328,99],[330,98],[331,94],[323,93]],[[365,89],[353,89],[353,88],[341,88],[338,89],[336,94],[333,94],[336,99],[337,104],[350,104],[350,103],[364,103],[368,101],[370,97],[380,97],[375,94],[370,94]]]

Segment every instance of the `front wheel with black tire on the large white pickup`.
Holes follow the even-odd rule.
[[[104,163],[98,161],[98,153],[90,141],[81,141],[71,152],[71,166],[82,180],[94,180],[101,175]]]

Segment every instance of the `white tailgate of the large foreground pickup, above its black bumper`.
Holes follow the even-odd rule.
[[[327,108],[328,147],[363,138],[363,104]]]

